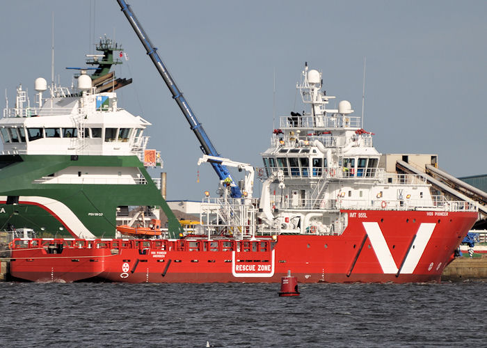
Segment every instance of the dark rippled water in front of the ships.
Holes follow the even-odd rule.
[[[487,283],[0,283],[2,347],[486,346]]]

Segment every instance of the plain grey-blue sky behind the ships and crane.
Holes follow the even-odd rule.
[[[438,154],[440,168],[457,177],[487,173],[486,1],[129,3],[223,157],[262,166],[274,70],[277,116],[303,109],[295,86],[305,61],[323,72],[328,95],[360,115],[366,57],[365,129],[379,152]],[[215,191],[216,175],[197,166],[199,144],[115,0],[0,8],[0,88],[10,103],[19,83],[33,90],[36,77],[50,79],[51,13],[64,85],[65,67],[82,65],[94,38],[114,36],[129,55],[115,72],[134,79],[118,91],[119,105],[152,122],[146,135],[161,150],[168,199]]]

